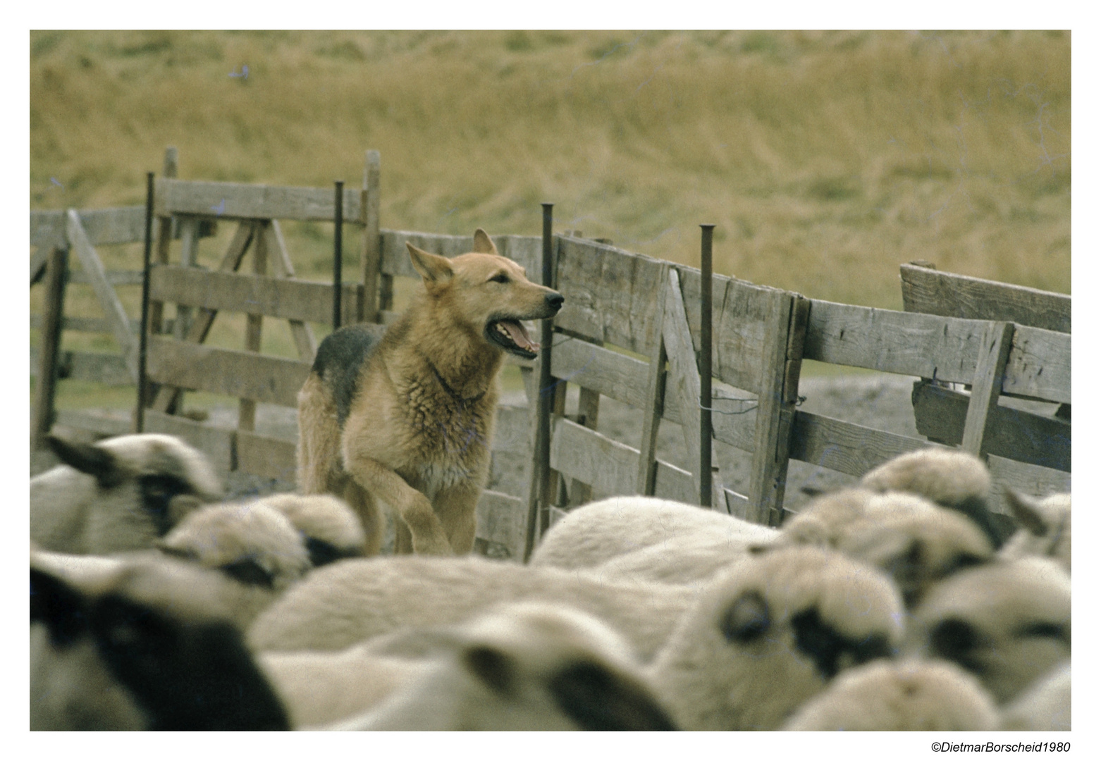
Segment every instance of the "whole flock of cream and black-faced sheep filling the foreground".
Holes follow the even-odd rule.
[[[176,438],[31,479],[31,729],[1070,728],[1070,497],[915,452],[782,529],[615,497],[527,565],[362,557]]]

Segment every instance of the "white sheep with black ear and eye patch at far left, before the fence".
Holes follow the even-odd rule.
[[[46,441],[64,465],[31,479],[31,540],[45,550],[148,548],[199,504],[221,498],[210,464],[173,436]]]

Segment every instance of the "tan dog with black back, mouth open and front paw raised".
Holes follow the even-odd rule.
[[[411,243],[423,280],[381,338],[349,325],[317,349],[298,392],[298,487],[344,498],[368,554],[382,542],[379,502],[395,513],[395,552],[466,554],[489,475],[504,354],[534,359],[520,320],[554,317],[565,297],[527,280],[484,230],[447,259]]]

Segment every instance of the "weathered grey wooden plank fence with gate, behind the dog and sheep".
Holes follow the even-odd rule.
[[[380,229],[378,181],[378,154],[369,152],[362,188],[345,191],[342,198],[345,221],[364,231],[360,282],[344,285],[345,323],[384,325],[395,317],[394,279],[416,278],[406,242],[448,257],[472,248],[470,237]],[[193,442],[224,472],[243,470],[293,481],[295,442],[258,434],[255,404],[295,406],[295,394],[316,352],[309,323],[330,320],[334,290],[329,283],[295,278],[280,220],[334,220],[334,193],[171,177],[157,181],[155,189],[159,242],[157,263],[151,271],[151,303],[156,308],[151,309],[148,372],[156,392],[146,412],[146,430]],[[48,226],[41,213],[32,214],[32,242],[43,241],[37,243],[40,250],[84,251],[80,261],[90,273],[95,267],[85,254],[91,246],[130,242],[135,232],[140,237],[135,213],[126,214],[130,216],[70,211],[65,215],[64,228],[54,221],[48,232],[37,237],[35,226],[42,230]],[[237,225],[232,241],[217,271],[195,268],[198,240],[216,221]],[[181,241],[178,264],[170,263],[174,239]],[[498,236],[493,240],[502,254],[528,273],[539,271],[541,238]],[[242,273],[249,254],[251,272]],[[1061,323],[1043,322],[1050,317],[1039,320],[1031,316],[1045,309],[1058,312],[1058,304],[1050,306],[1061,304],[1055,294],[1029,301],[1025,289],[944,273],[936,273],[941,283],[936,287],[928,283],[908,285],[922,276],[928,280],[931,270],[915,274],[914,270],[922,268],[903,267],[907,312],[808,300],[715,275],[716,399],[708,403],[700,399],[697,371],[701,322],[698,270],[571,235],[554,236],[552,256],[554,286],[566,296],[554,322],[554,340],[534,361],[510,358],[521,368],[527,410],[502,410],[503,417],[527,417],[528,452],[533,453],[525,474],[527,493],[486,492],[477,532],[477,546],[483,552],[495,546],[500,554],[517,557],[524,546],[528,509],[537,511],[537,526],[543,530],[563,510],[584,503],[593,493],[651,493],[695,502],[700,479],[705,488],[710,482],[716,509],[775,525],[782,519],[791,459],[860,476],[891,457],[929,446],[930,441],[960,444],[988,456],[1000,487],[1032,493],[1069,489],[1069,297],[1062,331]],[[35,261],[32,259],[32,283]],[[110,275],[99,280],[108,286],[112,283]],[[121,281],[116,275],[113,282]],[[952,283],[956,286],[950,286]],[[951,302],[951,297],[967,302],[960,294],[968,293],[972,301],[967,303],[980,298],[975,303],[1004,304],[1007,297],[998,289],[1006,287],[1006,293],[1021,296],[1011,313],[995,314],[975,306],[973,312],[957,314],[962,307]],[[108,300],[101,301],[106,308]],[[163,305],[168,303],[177,308],[171,326],[162,319]],[[249,315],[241,349],[204,344],[220,312]],[[259,351],[263,316],[290,322],[298,359]],[[135,340],[132,320],[123,322],[124,317],[109,320],[110,328],[121,333],[124,324],[129,338]],[[46,319],[41,324],[46,333]],[[63,325],[78,327],[75,323]],[[120,344],[127,346],[122,340]],[[914,409],[918,431],[928,438],[798,410],[803,359],[923,379],[915,384]],[[539,389],[539,362],[544,361],[550,363],[553,380],[548,388]],[[567,416],[569,383],[578,385],[580,393],[577,414]],[[969,384],[971,393],[945,384]],[[184,390],[238,398],[237,428],[215,428],[173,414],[179,410]],[[545,465],[534,456],[541,393],[552,398],[553,411]],[[643,426],[639,441],[614,441],[596,430],[602,396],[640,411]],[[1065,404],[1066,409],[1046,414],[1000,403],[1013,396],[1031,400],[1034,406],[1039,401]],[[751,454],[752,479],[746,494],[716,483],[712,474],[685,470],[655,457],[657,424],[664,418],[682,426],[689,461],[698,463],[701,414],[730,399],[744,400],[744,413],[713,415],[713,438]],[[75,415],[58,416],[58,422],[103,434],[122,433],[119,428],[124,427],[116,421],[99,423],[97,428],[95,421]],[[541,467],[549,468],[553,482],[546,504],[534,486]]]

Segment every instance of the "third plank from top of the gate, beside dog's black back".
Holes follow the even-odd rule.
[[[157,383],[293,407],[309,363],[151,336],[148,371]]]

